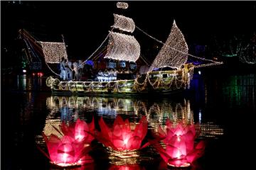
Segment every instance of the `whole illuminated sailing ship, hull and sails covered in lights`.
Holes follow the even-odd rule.
[[[117,8],[128,8],[128,4],[117,3]],[[130,63],[135,64],[142,57],[139,42],[131,35],[135,28],[132,18],[114,14],[114,25],[107,35],[109,41],[104,60],[114,61],[114,65],[127,62],[131,66],[133,64]],[[68,58],[63,42],[41,42],[41,45],[48,63],[59,63],[61,56]],[[174,21],[169,38],[154,62],[137,77],[119,70],[108,77],[99,72],[97,79],[90,81],[60,81],[58,78],[48,77],[46,84],[55,94],[170,94],[189,87],[193,77],[193,64],[188,64],[187,59],[188,45]],[[109,65],[110,62],[106,64]],[[108,68],[117,69],[113,66]]]

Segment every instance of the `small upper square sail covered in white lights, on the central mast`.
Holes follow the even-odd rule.
[[[135,30],[135,24],[132,18],[120,16],[117,14],[114,14],[114,26],[112,27],[127,31],[129,33],[133,33]]]

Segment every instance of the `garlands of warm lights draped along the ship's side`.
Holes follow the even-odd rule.
[[[186,66],[186,65],[185,65]],[[145,79],[117,80],[117,81],[59,81],[48,77],[46,85],[53,91],[76,92],[96,92],[96,93],[140,93],[152,88],[156,91],[186,89],[190,86],[190,80],[193,78],[193,67],[178,71],[154,72],[156,74],[146,74]],[[167,74],[168,78],[163,78]],[[152,77],[154,76],[154,77]],[[152,77],[152,78],[151,78]]]

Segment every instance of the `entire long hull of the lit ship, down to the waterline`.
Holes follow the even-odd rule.
[[[85,94],[97,96],[136,96],[143,94],[174,94],[188,89],[193,78],[193,65],[183,69],[142,74],[136,79],[116,81],[60,81],[46,79],[53,94]]]

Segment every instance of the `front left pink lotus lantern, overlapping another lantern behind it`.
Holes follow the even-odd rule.
[[[42,149],[41,151],[50,159],[50,163],[55,166],[80,166],[83,164],[82,160],[85,159],[91,149],[89,145],[75,142],[72,137],[66,135],[58,138],[56,135],[51,134],[48,139],[43,133],[43,138],[46,141],[49,156]]]

